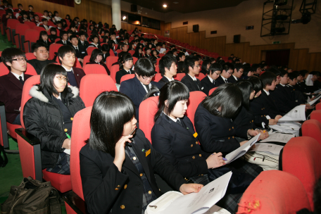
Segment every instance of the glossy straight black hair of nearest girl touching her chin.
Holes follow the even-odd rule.
[[[90,117],[90,148],[115,156],[115,144],[124,125],[135,116],[135,106],[120,92],[102,92],[96,97]]]

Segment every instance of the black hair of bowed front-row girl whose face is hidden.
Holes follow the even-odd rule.
[[[242,93],[239,87],[232,83],[221,84],[210,96],[206,96],[202,104],[215,116],[234,118],[242,104]]]

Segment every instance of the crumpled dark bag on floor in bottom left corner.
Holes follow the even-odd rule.
[[[23,178],[11,186],[8,199],[1,204],[1,214],[61,214],[59,194],[50,182],[39,182],[32,177]]]

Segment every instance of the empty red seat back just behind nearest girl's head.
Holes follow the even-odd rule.
[[[106,71],[105,74],[89,74],[82,77],[80,97],[84,101],[84,106],[92,106],[96,96],[106,91],[118,92],[115,82],[106,74]]]

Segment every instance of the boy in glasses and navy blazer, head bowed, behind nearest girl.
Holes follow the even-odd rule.
[[[136,116],[139,118],[139,105],[144,96],[150,92],[153,87],[160,88],[158,82],[153,82],[155,68],[148,58],[140,58],[135,64],[136,77],[126,80],[120,84],[122,94],[126,94],[133,101],[136,108]]]

